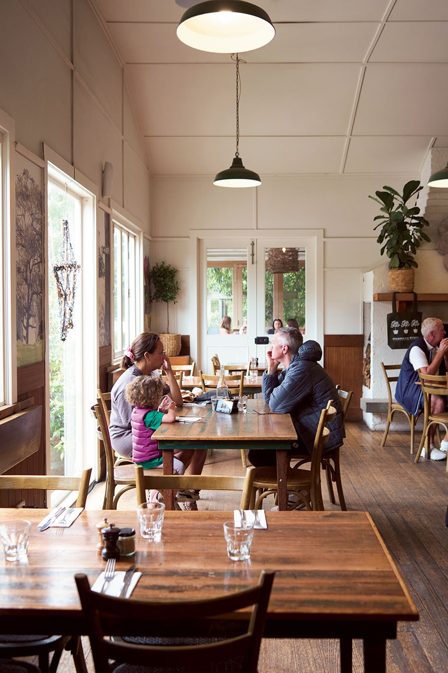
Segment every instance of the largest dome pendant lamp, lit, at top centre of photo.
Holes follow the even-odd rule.
[[[187,9],[176,32],[181,42],[195,49],[236,54],[271,42],[275,28],[257,5],[243,0],[208,0]]]

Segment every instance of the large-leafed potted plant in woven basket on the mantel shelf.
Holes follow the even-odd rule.
[[[422,240],[431,241],[423,227],[429,226],[427,219],[415,205],[408,207],[406,203],[412,197],[418,199],[418,192],[423,186],[420,180],[410,180],[399,194],[392,187],[384,186],[384,192],[375,192],[376,198],[369,196],[380,206],[384,215],[377,215],[373,221],[379,220],[373,231],[382,227],[377,243],[383,244],[381,254],[386,252],[389,262],[389,289],[392,292],[412,292],[414,290],[414,269],[418,267],[414,260],[417,248]]]

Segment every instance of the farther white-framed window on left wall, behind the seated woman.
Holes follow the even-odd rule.
[[[114,215],[114,358],[142,330],[141,233]]]

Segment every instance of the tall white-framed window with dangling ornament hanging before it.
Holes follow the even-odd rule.
[[[66,332],[62,329],[64,304],[61,302],[64,297],[60,291],[58,293],[53,273],[54,264],[60,265],[64,261],[64,220],[69,223],[73,256],[81,264],[75,284],[73,327]],[[89,416],[97,386],[95,240],[92,194],[49,165],[47,243],[51,474],[79,474],[85,467],[95,465],[96,460]]]

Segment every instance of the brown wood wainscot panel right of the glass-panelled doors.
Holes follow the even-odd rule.
[[[362,421],[363,334],[325,334],[324,368],[335,384],[353,390],[347,421]]]

